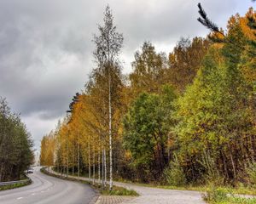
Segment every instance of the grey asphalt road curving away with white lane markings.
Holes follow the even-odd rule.
[[[30,185],[0,191],[0,204],[89,204],[96,196],[89,185],[49,177],[40,167],[29,177]]]

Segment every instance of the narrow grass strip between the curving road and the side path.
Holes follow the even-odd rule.
[[[45,173],[49,176],[54,176],[56,178],[61,178],[61,179],[66,179],[66,180],[71,180],[71,181],[76,181],[82,184],[90,184],[90,186],[97,190],[101,195],[123,195],[123,196],[138,196],[137,192],[135,190],[127,190],[123,187],[119,187],[119,186],[113,186],[113,190],[108,190],[109,189],[109,185],[106,186],[106,189],[102,189],[102,185],[100,184],[91,184],[89,181],[84,181],[84,180],[79,180],[76,178],[67,178],[65,176],[60,176],[60,175],[56,175],[54,173],[49,173],[48,171],[46,171],[45,167],[41,168],[40,170],[42,173]]]

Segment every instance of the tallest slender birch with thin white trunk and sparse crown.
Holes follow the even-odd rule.
[[[96,49],[94,57],[97,68],[94,74],[102,73],[102,77],[107,79],[108,84],[108,142],[109,142],[109,189],[113,187],[113,81],[119,75],[119,54],[123,44],[123,35],[116,31],[113,25],[113,14],[109,6],[104,13],[104,24],[98,26],[99,35],[94,36]],[[107,85],[105,84],[105,85]],[[106,93],[105,93],[106,94]],[[104,154],[105,155],[105,154]],[[105,167],[106,169],[106,167]]]

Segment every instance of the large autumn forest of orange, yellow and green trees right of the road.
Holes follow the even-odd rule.
[[[222,29],[199,8],[207,37],[181,37],[170,54],[143,42],[125,75],[124,37],[107,7],[90,79],[44,135],[41,165],[109,180],[110,189],[113,179],[255,185],[256,13],[235,14]]]

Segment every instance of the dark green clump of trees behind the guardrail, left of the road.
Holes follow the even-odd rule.
[[[0,97],[0,182],[24,178],[34,160],[32,147],[31,134],[20,115]]]

